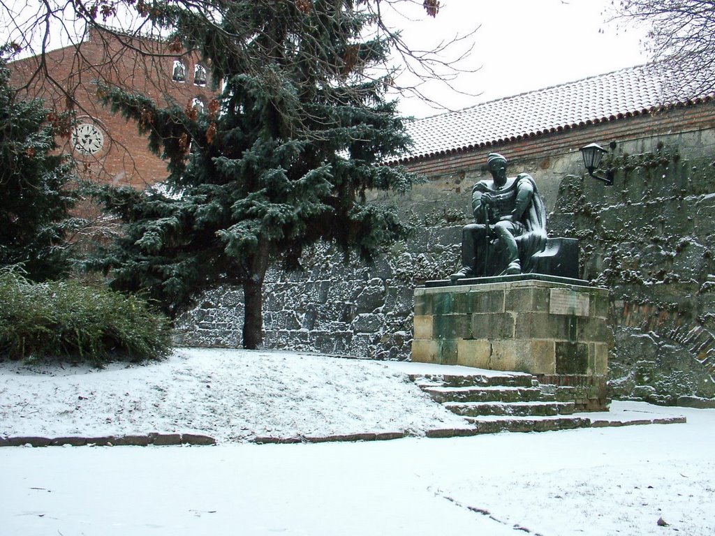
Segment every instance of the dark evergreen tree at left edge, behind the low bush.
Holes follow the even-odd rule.
[[[16,98],[0,49],[0,267],[20,264],[36,281],[69,269],[66,234],[77,201],[71,164],[56,154],[55,136],[69,121],[39,99]]]

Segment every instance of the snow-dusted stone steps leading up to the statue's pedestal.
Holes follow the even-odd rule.
[[[568,387],[541,386],[531,374],[410,374],[410,379],[436,402],[464,417],[474,433],[591,427],[590,419],[572,415],[575,403]]]

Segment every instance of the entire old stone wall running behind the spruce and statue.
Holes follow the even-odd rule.
[[[613,187],[581,175],[576,148],[509,162],[510,175],[536,179],[549,234],[580,239],[582,276],[611,289],[615,397],[674,403],[715,396],[714,132],[618,142],[608,157]],[[453,167],[408,196],[378,199],[402,207],[415,234],[385,249],[374,266],[346,265],[322,247],[307,255],[305,272],[270,274],[266,346],[408,359],[413,289],[459,267],[471,187],[487,177],[483,152],[476,167]],[[240,290],[207,294],[181,319],[181,342],[239,346],[241,304]]]

